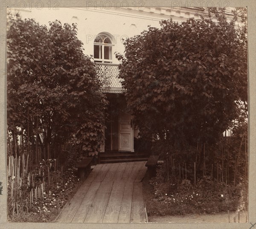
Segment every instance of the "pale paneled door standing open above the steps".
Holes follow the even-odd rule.
[[[132,116],[119,111],[118,117],[119,129],[119,151],[134,152],[134,129]]]

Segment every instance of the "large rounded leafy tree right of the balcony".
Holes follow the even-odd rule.
[[[119,77],[141,135],[182,146],[214,142],[247,104],[247,30],[224,9],[181,24],[163,20],[124,42]]]

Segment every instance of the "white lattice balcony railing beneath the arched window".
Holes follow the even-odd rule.
[[[122,93],[121,79],[118,78],[117,64],[95,63],[96,72],[103,82],[103,91],[106,93]]]

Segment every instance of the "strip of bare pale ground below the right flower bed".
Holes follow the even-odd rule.
[[[234,217],[236,218],[236,223],[247,223],[247,212],[240,212],[240,217],[238,221],[238,212],[230,212],[230,223],[234,222]],[[189,215],[150,215],[148,216],[149,223],[229,223],[229,218],[227,213],[218,213],[214,215],[205,214],[189,214]]]

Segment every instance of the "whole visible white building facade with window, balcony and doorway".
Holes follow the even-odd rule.
[[[58,8],[58,10],[20,10],[22,18],[34,18],[38,23],[49,25],[49,21],[77,23],[78,39],[84,44],[84,54],[91,55],[96,71],[103,80],[104,93],[109,104],[109,118],[105,129],[105,144],[101,152],[134,152],[138,130],[133,117],[127,113],[122,84],[118,78],[119,61],[115,53],[123,54],[123,39],[140,34],[148,26],[160,28],[161,20],[172,18],[181,23],[190,17],[200,19],[207,15],[206,8]]]

